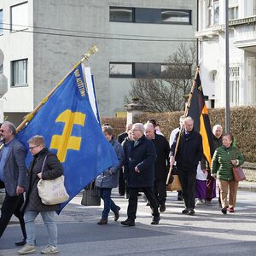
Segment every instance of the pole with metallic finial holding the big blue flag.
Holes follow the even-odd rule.
[[[34,117],[34,115],[35,115],[36,113],[38,113],[38,110],[39,110],[40,108],[42,108],[42,106],[44,105],[44,103],[49,100],[49,97],[52,96],[53,93],[55,92],[55,90],[57,90],[57,89],[61,86],[61,84],[64,82],[64,80],[67,79],[67,77],[70,75],[70,73],[73,73],[73,71],[74,71],[77,67],[79,67],[79,65],[80,65],[82,62],[88,61],[90,55],[95,54],[97,51],[98,51],[98,49],[97,49],[96,45],[93,45],[92,47],[90,47],[90,49],[88,50],[88,52],[83,55],[83,58],[82,58],[79,62],[77,62],[77,63],[73,66],[73,68],[67,73],[67,75],[66,75],[63,79],[61,79],[61,81],[55,86],[55,88],[53,88],[53,89],[49,92],[49,94],[44,97],[43,101],[40,102],[40,103],[38,104],[38,106],[37,106],[36,108],[34,108],[34,110],[32,110],[31,113],[29,113],[29,114],[26,115],[26,118],[25,118],[25,119],[21,122],[21,124],[16,128],[16,132],[19,132],[19,131],[26,125],[26,123],[29,122],[29,121]]]

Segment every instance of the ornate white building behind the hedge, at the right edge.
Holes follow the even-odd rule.
[[[201,80],[212,107],[225,106],[225,1],[198,0]],[[256,104],[256,1],[229,1],[230,106]]]

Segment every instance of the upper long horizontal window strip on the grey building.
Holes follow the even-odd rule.
[[[191,24],[191,10],[109,7],[110,21]]]

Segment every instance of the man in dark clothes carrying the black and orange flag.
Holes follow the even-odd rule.
[[[177,134],[171,148],[171,163],[174,164],[175,160],[177,161],[177,175],[183,189],[183,199],[186,206],[183,213],[189,213],[189,215],[195,214],[195,176],[202,157],[201,134],[195,131],[193,126],[194,120],[191,117],[186,117],[176,155],[175,148],[179,134]]]

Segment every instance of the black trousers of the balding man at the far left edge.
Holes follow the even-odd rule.
[[[15,216],[20,220],[22,234],[23,237],[26,239],[25,222],[23,218],[24,211],[20,211],[23,202],[23,195],[9,196],[7,193],[5,194],[3,206],[1,208],[0,237],[3,235],[4,230],[9,224],[10,218],[12,218],[13,214],[15,214]]]

